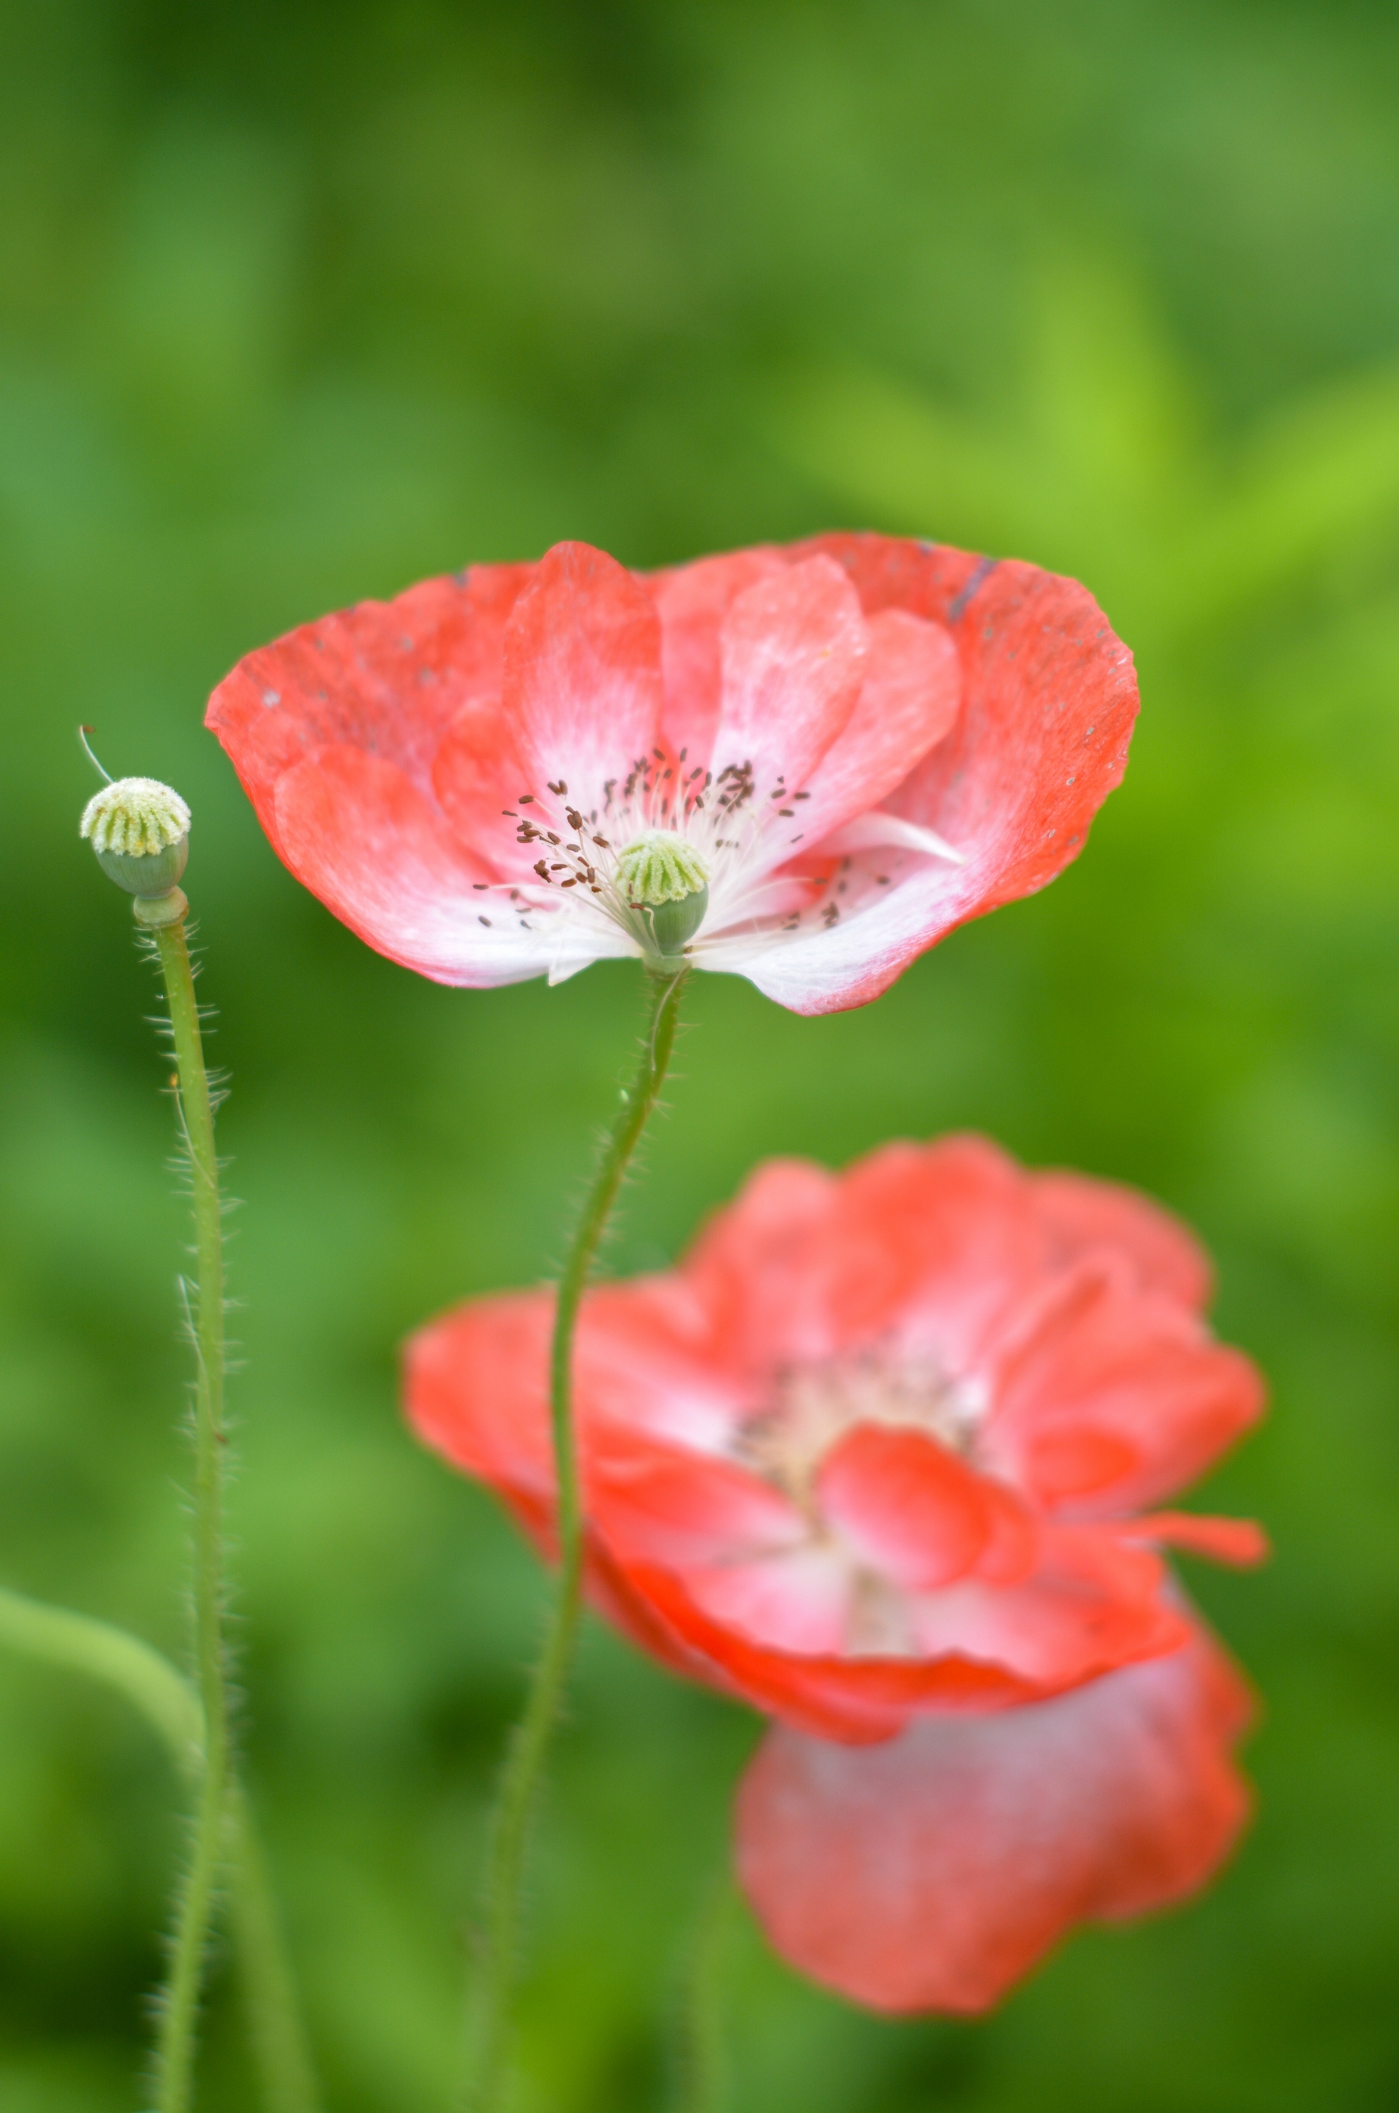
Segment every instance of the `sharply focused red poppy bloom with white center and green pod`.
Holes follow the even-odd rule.
[[[431,579],[249,653],[207,723],[292,873],[437,983],[687,953],[831,1012],[1050,881],[1135,710],[1074,581],[828,535]]]

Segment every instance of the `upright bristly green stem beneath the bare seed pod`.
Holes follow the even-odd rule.
[[[184,900],[184,898],[180,898]],[[139,917],[137,900],[137,917]],[[154,923],[154,917],[142,919]],[[224,1228],[213,1149],[213,1099],[205,1071],[194,972],[184,915],[154,923],[175,1042],[180,1124],[194,1200],[194,1678],[203,1705],[203,1766],[190,1862],[180,1889],[171,1961],[161,1995],[156,2109],[186,2113],[209,1923],[224,1859],[228,1798],[228,1686],[224,1663]]]

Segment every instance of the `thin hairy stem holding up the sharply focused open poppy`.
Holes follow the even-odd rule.
[[[495,2113],[505,2083],[505,2024],[520,1944],[520,1912],[530,1821],[543,1764],[568,1680],[583,1587],[583,1515],[573,1428],[573,1331],[587,1274],[607,1232],[623,1175],[661,1092],[674,1046],[687,968],[651,972],[651,1014],[640,1063],[607,1137],[568,1259],[558,1283],[549,1354],[549,1418],[558,1483],[558,1578],[549,1627],[535,1665],[524,1714],[511,1735],[490,1817],[482,1931],[467,2003],[467,2090],[463,2113]]]

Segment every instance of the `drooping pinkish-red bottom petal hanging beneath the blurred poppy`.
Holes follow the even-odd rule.
[[[881,2012],[989,2009],[1076,1923],[1181,1900],[1249,1811],[1249,1718],[1205,1633],[1071,1695],[919,1718],[885,1745],[778,1728],[738,1798],[773,1948]]]

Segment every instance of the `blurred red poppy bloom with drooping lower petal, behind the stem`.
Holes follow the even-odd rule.
[[[1198,1885],[1245,1811],[1238,1678],[1150,1511],[1260,1414],[1209,1266],[1143,1196],[974,1137],[776,1160],[577,1335],[594,1602],[778,1720],[740,1866],[858,2001],[976,2009],[1069,1923]],[[408,1414],[545,1551],[552,1293],[408,1346]]]

